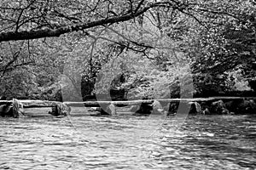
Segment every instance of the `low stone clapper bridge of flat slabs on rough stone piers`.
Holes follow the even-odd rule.
[[[232,113],[227,108],[234,105],[244,105],[251,107],[256,112],[256,97],[211,97],[194,99],[143,99],[128,101],[84,101],[84,102],[57,102],[48,100],[0,100],[1,116],[22,117],[27,116],[27,108],[51,108],[47,114],[52,116],[68,116],[72,107],[96,107],[92,111],[100,111],[100,115],[117,115],[116,107],[127,105],[137,106],[132,112],[150,114],[151,111],[160,114],[170,115],[175,113],[173,108],[181,105],[189,105],[190,111],[194,109],[197,114]],[[229,106],[228,106],[229,105]],[[174,109],[175,110],[175,109]]]

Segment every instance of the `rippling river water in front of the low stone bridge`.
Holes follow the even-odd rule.
[[[256,116],[0,119],[0,169],[256,169]]]

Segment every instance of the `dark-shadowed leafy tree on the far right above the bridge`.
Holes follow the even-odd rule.
[[[255,3],[231,1],[229,6],[219,8],[227,7],[230,7],[227,11],[232,17],[220,15],[213,25],[209,22],[209,29],[201,30],[201,36],[195,38],[197,42],[194,44],[199,48],[191,53],[195,82],[200,82],[198,88],[208,87],[208,90],[215,91],[215,95],[236,90],[237,71],[241,71],[245,85],[255,77]],[[230,74],[233,75],[231,79]],[[209,91],[206,94],[210,94]]]

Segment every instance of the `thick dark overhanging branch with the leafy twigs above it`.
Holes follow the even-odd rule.
[[[148,1],[3,1],[1,5],[0,42],[59,37],[131,20],[150,8],[172,7],[177,2]],[[107,6],[107,8],[105,8]]]

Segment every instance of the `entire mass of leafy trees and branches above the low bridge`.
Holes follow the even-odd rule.
[[[109,86],[140,97],[179,92],[188,74],[198,93],[247,89],[256,70],[255,9],[253,0],[3,0],[2,94],[49,99],[65,75],[91,95],[113,64],[119,74],[107,77]]]

